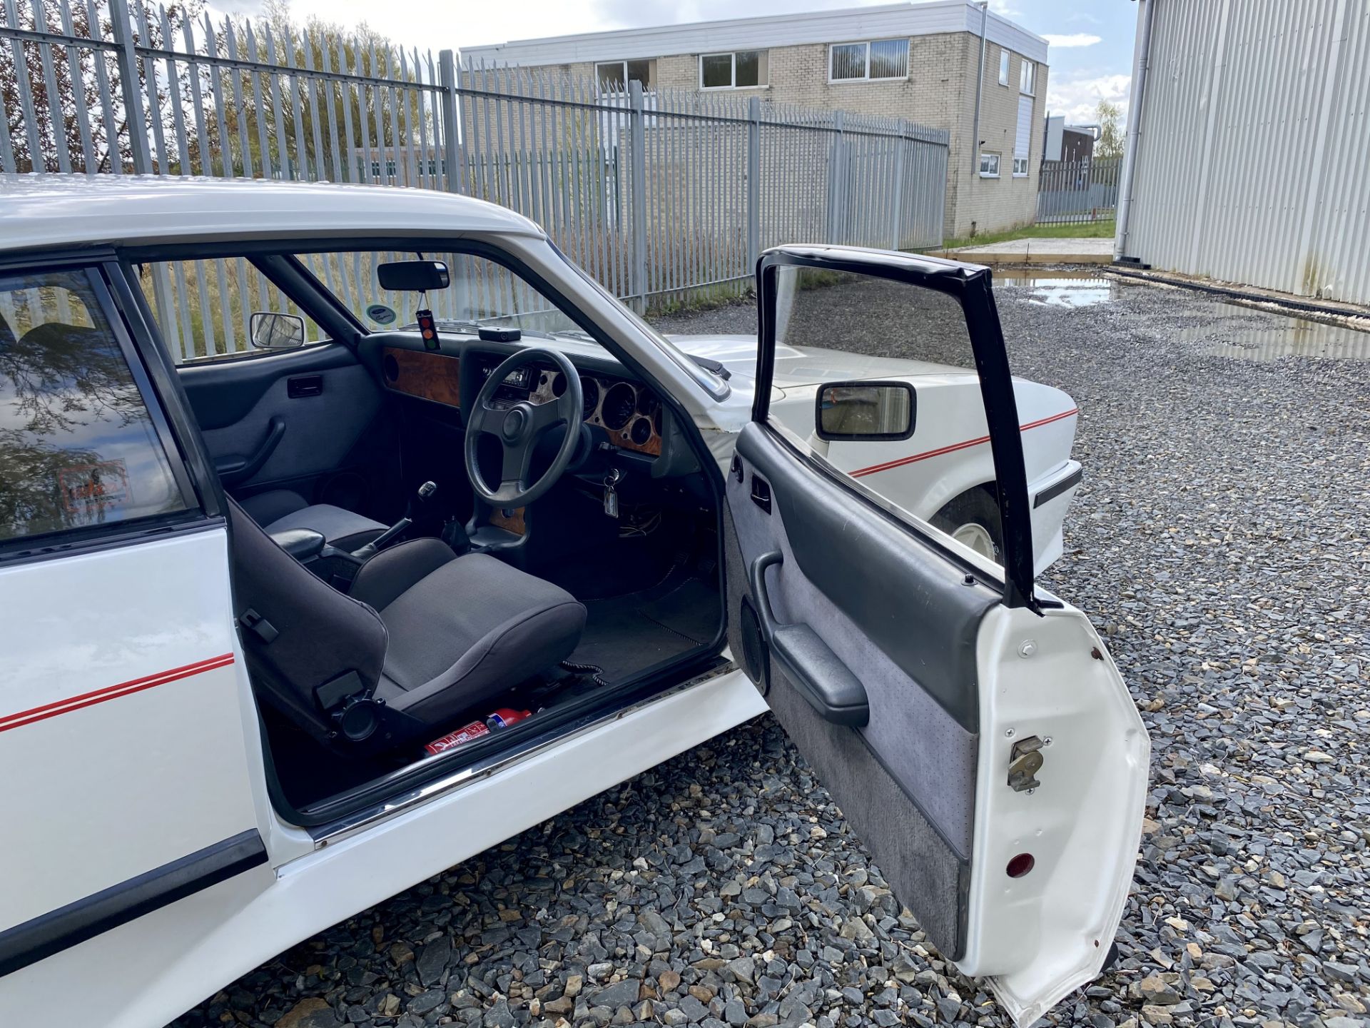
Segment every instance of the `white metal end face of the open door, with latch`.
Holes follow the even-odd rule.
[[[988,976],[1029,1025],[1108,955],[1141,839],[1151,740],[1089,618],[1069,604],[1041,617],[996,607],[980,629],[978,665],[975,929],[958,966]],[[1006,785],[1010,754],[1029,736],[1049,740],[1041,785],[1018,792]],[[1036,866],[1011,879],[1018,854]]]

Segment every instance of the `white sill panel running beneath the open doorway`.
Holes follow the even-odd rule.
[[[745,676],[727,672],[490,777],[434,791],[429,802],[311,846],[304,857],[281,861],[273,853],[274,870],[255,868],[3,979],[0,1024],[41,1017],[44,1028],[86,1028],[99,1010],[105,1028],[160,1028],[300,939],[764,710]],[[70,1002],[74,990],[95,1006]],[[53,1005],[53,995],[67,1002]]]

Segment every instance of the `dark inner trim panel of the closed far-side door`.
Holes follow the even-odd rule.
[[[374,480],[379,473],[363,444],[382,393],[347,347],[185,366],[181,382],[215,469],[234,493],[288,485],[325,502],[337,474]]]

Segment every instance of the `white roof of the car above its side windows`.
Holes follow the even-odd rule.
[[[0,174],[0,252],[299,236],[543,236],[519,214],[437,189],[262,178]]]

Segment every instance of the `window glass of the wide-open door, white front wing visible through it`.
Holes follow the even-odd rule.
[[[832,269],[781,266],[775,274],[770,422],[997,561],[995,463],[960,302]]]

